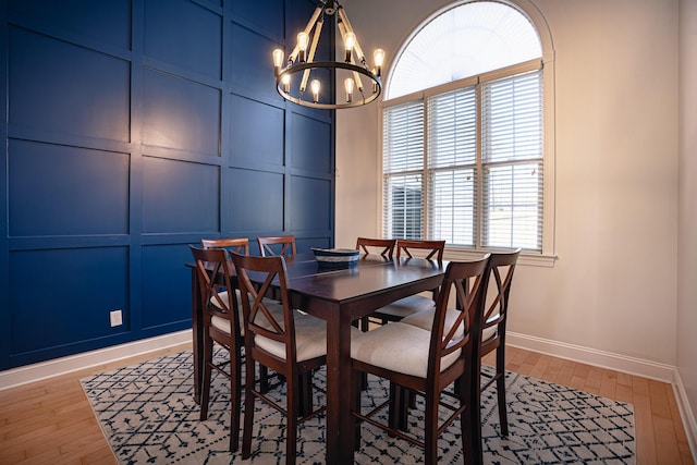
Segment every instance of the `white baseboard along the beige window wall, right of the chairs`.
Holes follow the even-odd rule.
[[[675,367],[506,331],[506,345],[674,384]]]

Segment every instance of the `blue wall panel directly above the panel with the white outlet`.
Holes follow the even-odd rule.
[[[129,155],[10,140],[10,235],[129,233]]]

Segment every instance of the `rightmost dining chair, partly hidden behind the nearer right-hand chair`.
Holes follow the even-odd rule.
[[[509,313],[509,297],[513,272],[521,255],[521,249],[513,252],[499,252],[489,254],[487,267],[488,285],[485,290],[485,307],[481,317],[481,356],[497,351],[494,375],[488,376],[479,372],[479,405],[481,405],[481,391],[496,383],[499,405],[499,424],[501,435],[509,436],[509,421],[505,402],[505,326]],[[453,310],[455,311],[455,310]],[[432,310],[421,311],[408,316],[402,320],[406,325],[428,329],[433,321]],[[452,315],[449,315],[452,319]],[[404,423],[404,421],[403,421]]]

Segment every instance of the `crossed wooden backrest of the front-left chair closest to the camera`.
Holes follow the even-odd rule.
[[[285,259],[283,256],[254,257],[235,253],[230,253],[230,256],[242,295],[245,347],[256,346],[257,336],[267,338],[283,344],[284,358],[289,363],[295,362],[295,321],[288,293]],[[274,287],[278,287],[278,292]],[[278,302],[265,298],[271,293]],[[283,311],[272,311],[271,305],[281,305]]]

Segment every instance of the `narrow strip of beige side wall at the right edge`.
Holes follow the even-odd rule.
[[[677,369],[697,431],[697,0],[681,1],[680,19]]]

